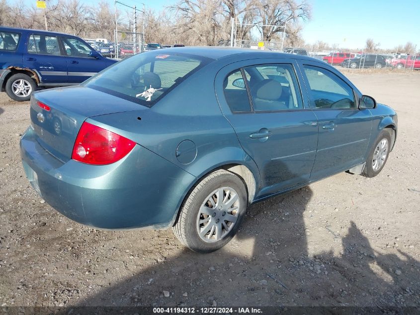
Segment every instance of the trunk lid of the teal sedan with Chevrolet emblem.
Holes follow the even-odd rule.
[[[49,106],[50,110],[40,107],[37,101]],[[148,108],[77,86],[34,93],[30,117],[39,144],[59,160],[67,162],[72,157],[77,134],[86,118],[141,109]]]

